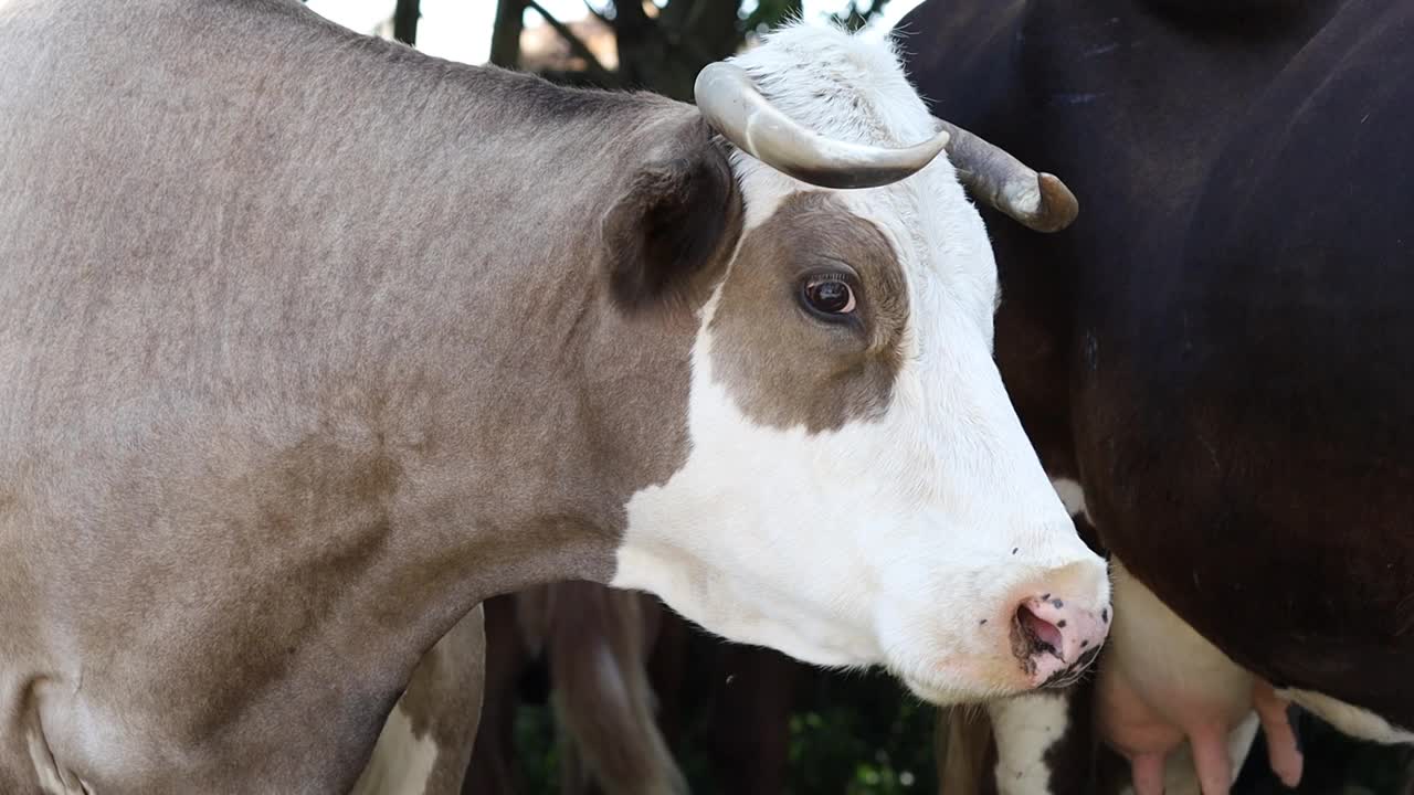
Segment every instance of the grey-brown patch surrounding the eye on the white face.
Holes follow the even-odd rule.
[[[848,284],[851,311],[814,311],[814,279]],[[829,194],[799,192],[742,242],[710,327],[713,368],[754,422],[834,430],[888,406],[906,321],[884,233]]]

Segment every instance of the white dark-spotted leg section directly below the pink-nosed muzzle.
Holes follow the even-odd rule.
[[[1046,751],[1070,727],[1072,693],[1034,693],[987,704],[997,737],[998,795],[1046,795]]]

